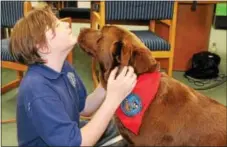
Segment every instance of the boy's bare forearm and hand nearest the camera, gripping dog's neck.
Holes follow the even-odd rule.
[[[81,146],[93,146],[107,128],[116,109],[136,84],[136,75],[130,67],[125,67],[115,79],[117,69],[110,74],[107,85],[107,96],[91,121],[81,129]],[[127,73],[126,73],[127,72]]]

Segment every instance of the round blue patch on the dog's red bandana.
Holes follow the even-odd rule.
[[[142,102],[137,95],[130,94],[121,103],[121,110],[127,116],[135,116],[142,110]]]

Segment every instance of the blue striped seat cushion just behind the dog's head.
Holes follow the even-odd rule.
[[[169,51],[170,44],[151,31],[132,31],[151,51]]]

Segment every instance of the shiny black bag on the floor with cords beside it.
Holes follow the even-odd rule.
[[[213,79],[219,74],[220,57],[214,53],[204,51],[193,55],[191,67],[185,72],[185,77],[195,79]]]

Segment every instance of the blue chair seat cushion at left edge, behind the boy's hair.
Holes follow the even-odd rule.
[[[1,40],[1,61],[11,61],[15,62],[9,51],[9,39]]]

